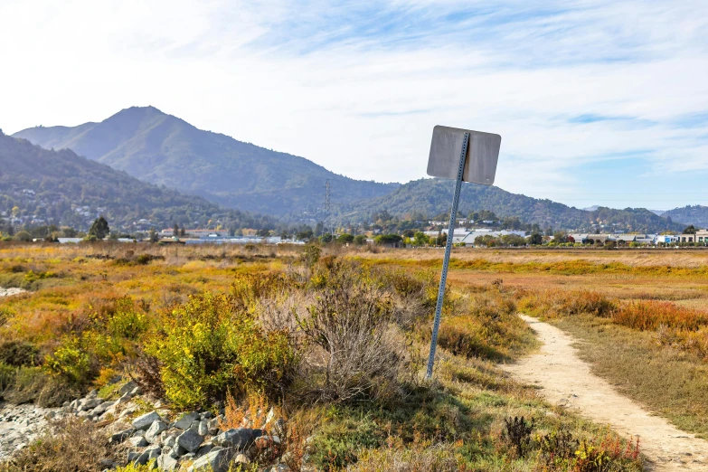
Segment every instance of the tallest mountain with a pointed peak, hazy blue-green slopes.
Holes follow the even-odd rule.
[[[325,199],[326,179],[337,189],[333,203],[382,196],[399,185],[336,175],[304,157],[203,131],[154,107],[123,109],[78,127],[28,128],[14,137],[68,148],[147,182],[252,212],[316,212]]]

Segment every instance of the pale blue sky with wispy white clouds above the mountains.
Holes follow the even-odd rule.
[[[435,125],[497,133],[496,185],[708,205],[708,2],[0,0],[0,128],[152,105],[379,182]]]

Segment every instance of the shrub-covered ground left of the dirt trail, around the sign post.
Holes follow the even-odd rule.
[[[56,405],[121,375],[233,425],[274,407],[293,470],[641,470],[636,445],[497,369],[536,348],[528,291],[453,284],[430,382],[437,271],[340,251],[0,245],[0,285],[30,290],[0,299],[0,392]],[[116,452],[82,431],[91,456],[52,435],[0,470],[100,470]]]

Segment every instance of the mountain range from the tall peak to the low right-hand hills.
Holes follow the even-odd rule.
[[[198,129],[154,107],[123,109],[99,123],[32,127],[14,134],[44,148],[70,148],[80,156],[151,184],[195,194],[224,207],[276,215],[286,222],[314,222],[324,212],[325,182],[339,222],[367,221],[374,212],[394,215],[449,211],[452,186],[441,179],[381,184],[336,175],[304,157],[272,151]],[[644,209],[569,207],[511,194],[496,186],[464,184],[460,210],[516,216],[543,228],[598,231],[679,231],[708,222],[708,208],[687,207],[657,215]],[[590,211],[589,211],[590,210]],[[670,218],[666,218],[669,217]]]

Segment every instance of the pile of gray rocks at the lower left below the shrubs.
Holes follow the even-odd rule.
[[[285,421],[275,419],[270,411],[263,429],[221,430],[223,414],[189,411],[175,414],[140,396],[140,388],[127,382],[118,391],[118,400],[103,400],[91,391],[83,398],[66,402],[61,409],[42,409],[33,405],[9,407],[0,411],[0,460],[9,457],[36,439],[49,420],[75,415],[96,422],[109,432],[110,442],[126,448],[123,464],[104,464],[115,468],[127,463],[152,464],[159,470],[188,472],[226,472],[232,463],[249,464],[257,451],[278,452]],[[146,405],[152,408],[146,411]],[[5,427],[4,425],[11,425]],[[5,432],[5,434],[4,434]],[[278,456],[278,454],[274,454]],[[278,464],[273,471],[287,472]]]

